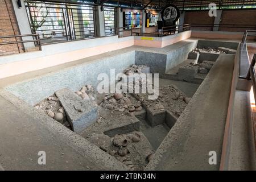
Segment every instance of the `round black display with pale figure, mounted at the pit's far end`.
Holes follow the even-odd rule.
[[[180,18],[180,10],[175,5],[164,7],[161,14],[164,26],[172,26]]]

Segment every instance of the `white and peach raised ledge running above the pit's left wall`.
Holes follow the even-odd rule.
[[[42,51],[0,56],[0,78],[53,67],[133,45],[133,36],[110,36],[51,44],[43,46]]]

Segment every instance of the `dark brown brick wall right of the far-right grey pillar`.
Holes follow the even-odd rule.
[[[256,29],[256,10],[223,10],[220,24],[254,24],[254,28],[224,28],[219,31],[245,31]]]

